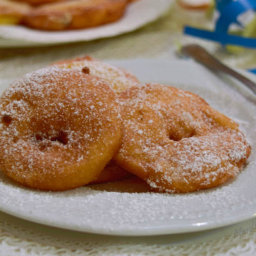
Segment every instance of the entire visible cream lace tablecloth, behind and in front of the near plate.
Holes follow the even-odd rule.
[[[100,59],[176,58],[176,44],[199,42],[182,36],[182,24],[211,27],[202,13],[173,6],[164,17],[127,35],[93,42],[1,49],[1,78],[19,77],[51,62],[90,54]],[[234,56],[218,45],[200,41],[229,65],[255,68],[256,51]],[[115,237],[85,234],[20,220],[0,212],[0,255],[255,255],[256,220],[189,234]]]

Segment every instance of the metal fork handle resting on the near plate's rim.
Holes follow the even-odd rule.
[[[253,83],[253,81],[247,77],[244,77],[232,68],[229,68],[220,61],[216,60],[216,58],[209,54],[209,52],[205,51],[203,47],[196,44],[184,45],[180,53],[182,55],[192,57],[194,60],[202,63],[204,66],[211,68],[212,70],[223,72],[235,77],[237,80],[245,84],[256,95],[256,83]]]

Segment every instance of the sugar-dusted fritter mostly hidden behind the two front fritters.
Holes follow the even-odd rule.
[[[72,68],[79,70],[84,67],[88,67],[90,69],[90,74],[104,79],[116,93],[123,92],[127,88],[140,83],[138,79],[131,73],[127,72],[127,70],[116,68],[108,63],[95,60],[90,56],[58,61],[52,65],[56,65],[60,68]]]

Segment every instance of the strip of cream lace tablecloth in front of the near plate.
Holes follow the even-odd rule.
[[[256,252],[256,220],[184,235],[97,236],[51,228],[0,214],[0,255],[188,255],[251,256]]]

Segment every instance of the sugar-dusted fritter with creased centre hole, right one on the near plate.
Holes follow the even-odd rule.
[[[193,93],[146,84],[119,98],[124,137],[114,159],[157,191],[218,186],[250,156],[238,125]]]

